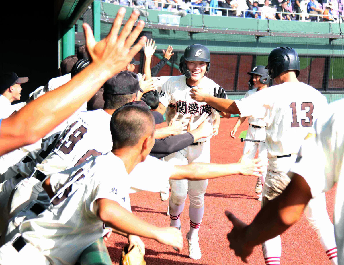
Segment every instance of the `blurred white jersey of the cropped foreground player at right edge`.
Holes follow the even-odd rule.
[[[323,110],[314,123],[314,130],[302,142],[298,159],[290,169],[307,181],[313,198],[338,183],[333,219],[338,261],[344,258],[343,104],[344,100],[338,100]]]

